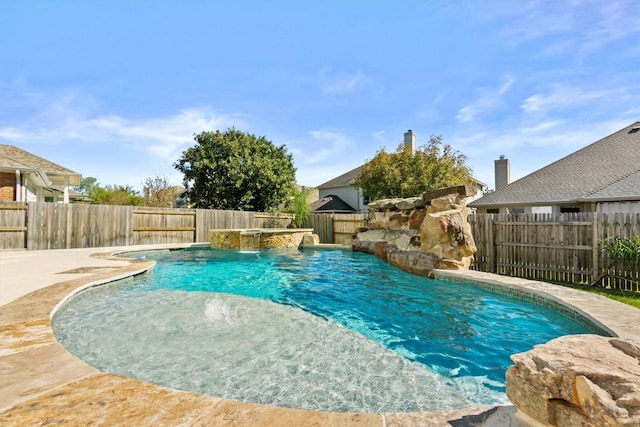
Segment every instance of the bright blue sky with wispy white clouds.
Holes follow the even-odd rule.
[[[193,134],[286,145],[317,186],[407,129],[494,186],[640,120],[640,2],[3,1],[0,143],[180,184]]]

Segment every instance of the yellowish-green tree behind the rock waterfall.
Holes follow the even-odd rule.
[[[443,144],[441,136],[432,135],[415,154],[404,144],[395,153],[378,151],[364,165],[355,184],[371,200],[419,196],[427,190],[470,183],[471,169],[466,161],[462,153]]]

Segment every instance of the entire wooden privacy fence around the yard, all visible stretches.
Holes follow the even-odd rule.
[[[0,203],[0,249],[64,249],[208,242],[209,230],[282,228],[290,214],[61,203]],[[321,243],[349,244],[363,214],[312,214]],[[640,214],[474,214],[472,268],[552,282],[640,292],[638,266],[611,266],[601,241],[640,235]],[[615,277],[614,277],[615,276]]]

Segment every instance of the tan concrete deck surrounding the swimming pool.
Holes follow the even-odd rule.
[[[426,413],[334,413],[243,403],[101,372],[67,352],[51,330],[54,308],[77,289],[142,273],[153,261],[116,252],[153,245],[0,252],[0,425],[528,426],[512,406]],[[440,271],[510,293],[544,296],[622,338],[640,336],[640,310],[598,295],[474,271]]]

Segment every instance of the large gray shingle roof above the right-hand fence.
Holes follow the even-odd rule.
[[[635,122],[469,206],[640,200],[640,122]]]

